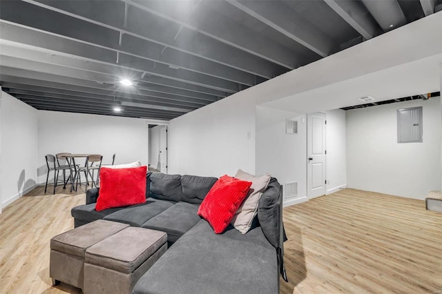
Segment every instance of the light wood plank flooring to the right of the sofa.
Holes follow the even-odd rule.
[[[345,189],[284,210],[282,293],[442,293],[442,213]]]

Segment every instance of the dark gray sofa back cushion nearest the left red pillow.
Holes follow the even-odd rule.
[[[182,197],[181,175],[151,173],[150,196],[156,199],[179,202]]]

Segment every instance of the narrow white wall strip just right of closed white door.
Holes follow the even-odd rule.
[[[346,121],[345,110],[328,110],[325,145],[327,194],[347,186]]]

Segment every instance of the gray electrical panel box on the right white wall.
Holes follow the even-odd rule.
[[[422,141],[422,106],[398,109],[398,143]]]

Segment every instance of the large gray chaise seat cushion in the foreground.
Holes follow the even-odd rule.
[[[135,285],[135,294],[278,293],[276,250],[258,226],[217,235],[202,219]]]

